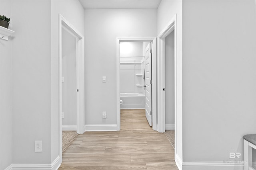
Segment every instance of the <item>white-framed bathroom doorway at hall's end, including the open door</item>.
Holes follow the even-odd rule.
[[[137,43],[142,46],[140,54],[134,55],[126,51],[124,54],[123,45],[130,44],[129,48],[132,48],[131,43]],[[117,130],[120,130],[120,108],[127,109],[128,102],[140,102],[138,104],[130,104],[134,108],[141,107],[146,110],[146,117],[153,130],[156,130],[156,38],[117,38],[117,92],[116,92],[116,105],[117,105]],[[129,49],[126,47],[125,49]],[[132,61],[132,62],[131,62]],[[129,64],[128,64],[129,63]],[[128,70],[127,68],[130,68]],[[134,68],[135,70],[131,69]],[[130,81],[127,86],[124,80],[128,80],[126,75],[128,71],[130,75]],[[124,75],[126,72],[127,74]],[[120,81],[121,80],[121,81]],[[126,88],[124,88],[126,87]],[[132,87],[129,89],[129,87]],[[128,93],[130,90],[132,94]],[[126,93],[127,92],[127,93]],[[120,95],[122,94],[122,95]],[[123,106],[120,106],[120,100],[123,102]],[[130,109],[134,109],[130,107]],[[136,109],[136,108],[135,108]],[[138,109],[138,108],[137,108]]]

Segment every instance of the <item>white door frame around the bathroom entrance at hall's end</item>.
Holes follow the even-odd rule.
[[[157,130],[156,122],[156,37],[116,37],[116,125],[120,131],[120,42],[149,41],[152,42],[152,129]],[[154,97],[153,97],[154,96]]]

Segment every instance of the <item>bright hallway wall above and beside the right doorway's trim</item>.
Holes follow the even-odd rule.
[[[158,35],[177,14],[177,143],[176,150],[182,159],[182,0],[162,0],[157,10]]]

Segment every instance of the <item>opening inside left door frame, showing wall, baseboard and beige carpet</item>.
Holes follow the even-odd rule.
[[[76,37],[62,27],[62,152],[77,135]]]

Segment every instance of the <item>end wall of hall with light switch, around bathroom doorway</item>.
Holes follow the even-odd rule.
[[[156,37],[156,18],[156,10],[85,10],[86,124],[116,124],[116,37]]]

